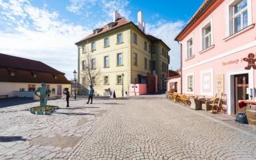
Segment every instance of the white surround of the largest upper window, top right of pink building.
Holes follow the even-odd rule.
[[[238,3],[240,0],[230,0],[226,3],[226,37],[233,34],[233,28],[232,33],[230,33],[230,18],[232,18],[232,10],[230,12],[230,6]],[[231,14],[231,15],[230,15]],[[247,16],[248,16],[248,26],[252,24],[252,0],[247,0]],[[241,26],[242,27],[242,26]],[[241,28],[242,29],[242,28]]]

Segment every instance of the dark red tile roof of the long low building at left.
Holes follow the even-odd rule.
[[[7,54],[0,54],[0,60],[0,82],[70,84],[64,73],[42,62]],[[11,76],[10,72],[14,72],[15,75]],[[36,78],[33,74],[36,74]]]

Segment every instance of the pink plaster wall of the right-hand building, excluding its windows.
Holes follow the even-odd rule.
[[[214,10],[200,25],[198,25],[186,38],[180,43],[182,44],[182,91],[188,93],[186,75],[194,75],[193,94],[203,94],[206,96],[214,96],[215,77],[216,75],[224,75],[224,98],[227,99],[227,86],[232,86],[231,82],[227,82],[228,74],[236,70],[244,70],[247,62],[242,59],[247,57],[249,53],[254,53],[256,58],[256,26],[244,29],[243,33],[229,40],[224,40],[226,35],[226,6],[231,0],[225,0]],[[248,0],[252,6],[252,24],[256,23],[256,0]],[[248,6],[249,7],[249,6]],[[248,10],[249,11],[249,10]],[[208,22],[212,22],[212,36],[214,47],[202,51],[202,27]],[[250,24],[249,24],[250,26]],[[193,36],[194,58],[186,60],[187,40]],[[210,70],[210,72],[205,70]],[[242,71],[244,72],[244,71]],[[250,72],[249,81],[252,82],[250,87],[256,87],[256,70]],[[210,76],[210,89],[203,88],[204,76]],[[230,91],[229,91],[230,92]],[[230,93],[230,96],[234,96]],[[229,108],[229,110],[232,110]],[[233,112],[233,111],[232,111]],[[230,111],[230,113],[232,113]]]

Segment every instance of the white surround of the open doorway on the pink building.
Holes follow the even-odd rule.
[[[235,103],[234,103],[234,96],[231,97],[231,93],[232,95],[234,95],[234,87],[231,87],[234,85],[234,79],[232,80],[232,78],[234,78],[234,75],[236,74],[248,74],[248,78],[249,78],[249,88],[254,88],[254,70],[245,70],[245,69],[238,69],[238,70],[231,70],[226,72],[226,81],[227,81],[227,85],[226,85],[226,89],[227,89],[227,113],[228,114],[235,114]],[[231,78],[232,77],[232,78]],[[231,106],[233,106],[231,108]]]

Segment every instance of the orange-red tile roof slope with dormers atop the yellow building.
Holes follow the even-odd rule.
[[[93,34],[93,33],[92,33],[92,34],[90,34],[89,36],[87,36],[86,38],[83,38],[82,40],[76,42],[75,44],[78,44],[78,43],[80,43],[80,42],[82,42],[82,41],[84,41],[84,40],[88,40],[89,38],[98,36],[99,34],[102,34],[102,33],[104,33],[104,32],[107,32],[107,31],[113,30],[113,29],[115,29],[115,28],[118,28],[118,27],[120,27],[120,26],[123,26],[123,25],[125,25],[125,24],[128,24],[128,23],[130,23],[131,21],[128,21],[128,20],[124,19],[123,17],[121,17],[121,18],[117,19],[116,22],[117,22],[117,24],[116,24],[115,26],[113,26],[111,29],[108,29],[108,24],[106,24],[104,27],[102,27],[102,30],[101,30],[100,32],[98,32],[97,34]],[[112,23],[112,22],[110,22],[110,23]],[[110,23],[109,23],[109,24],[110,24]]]

